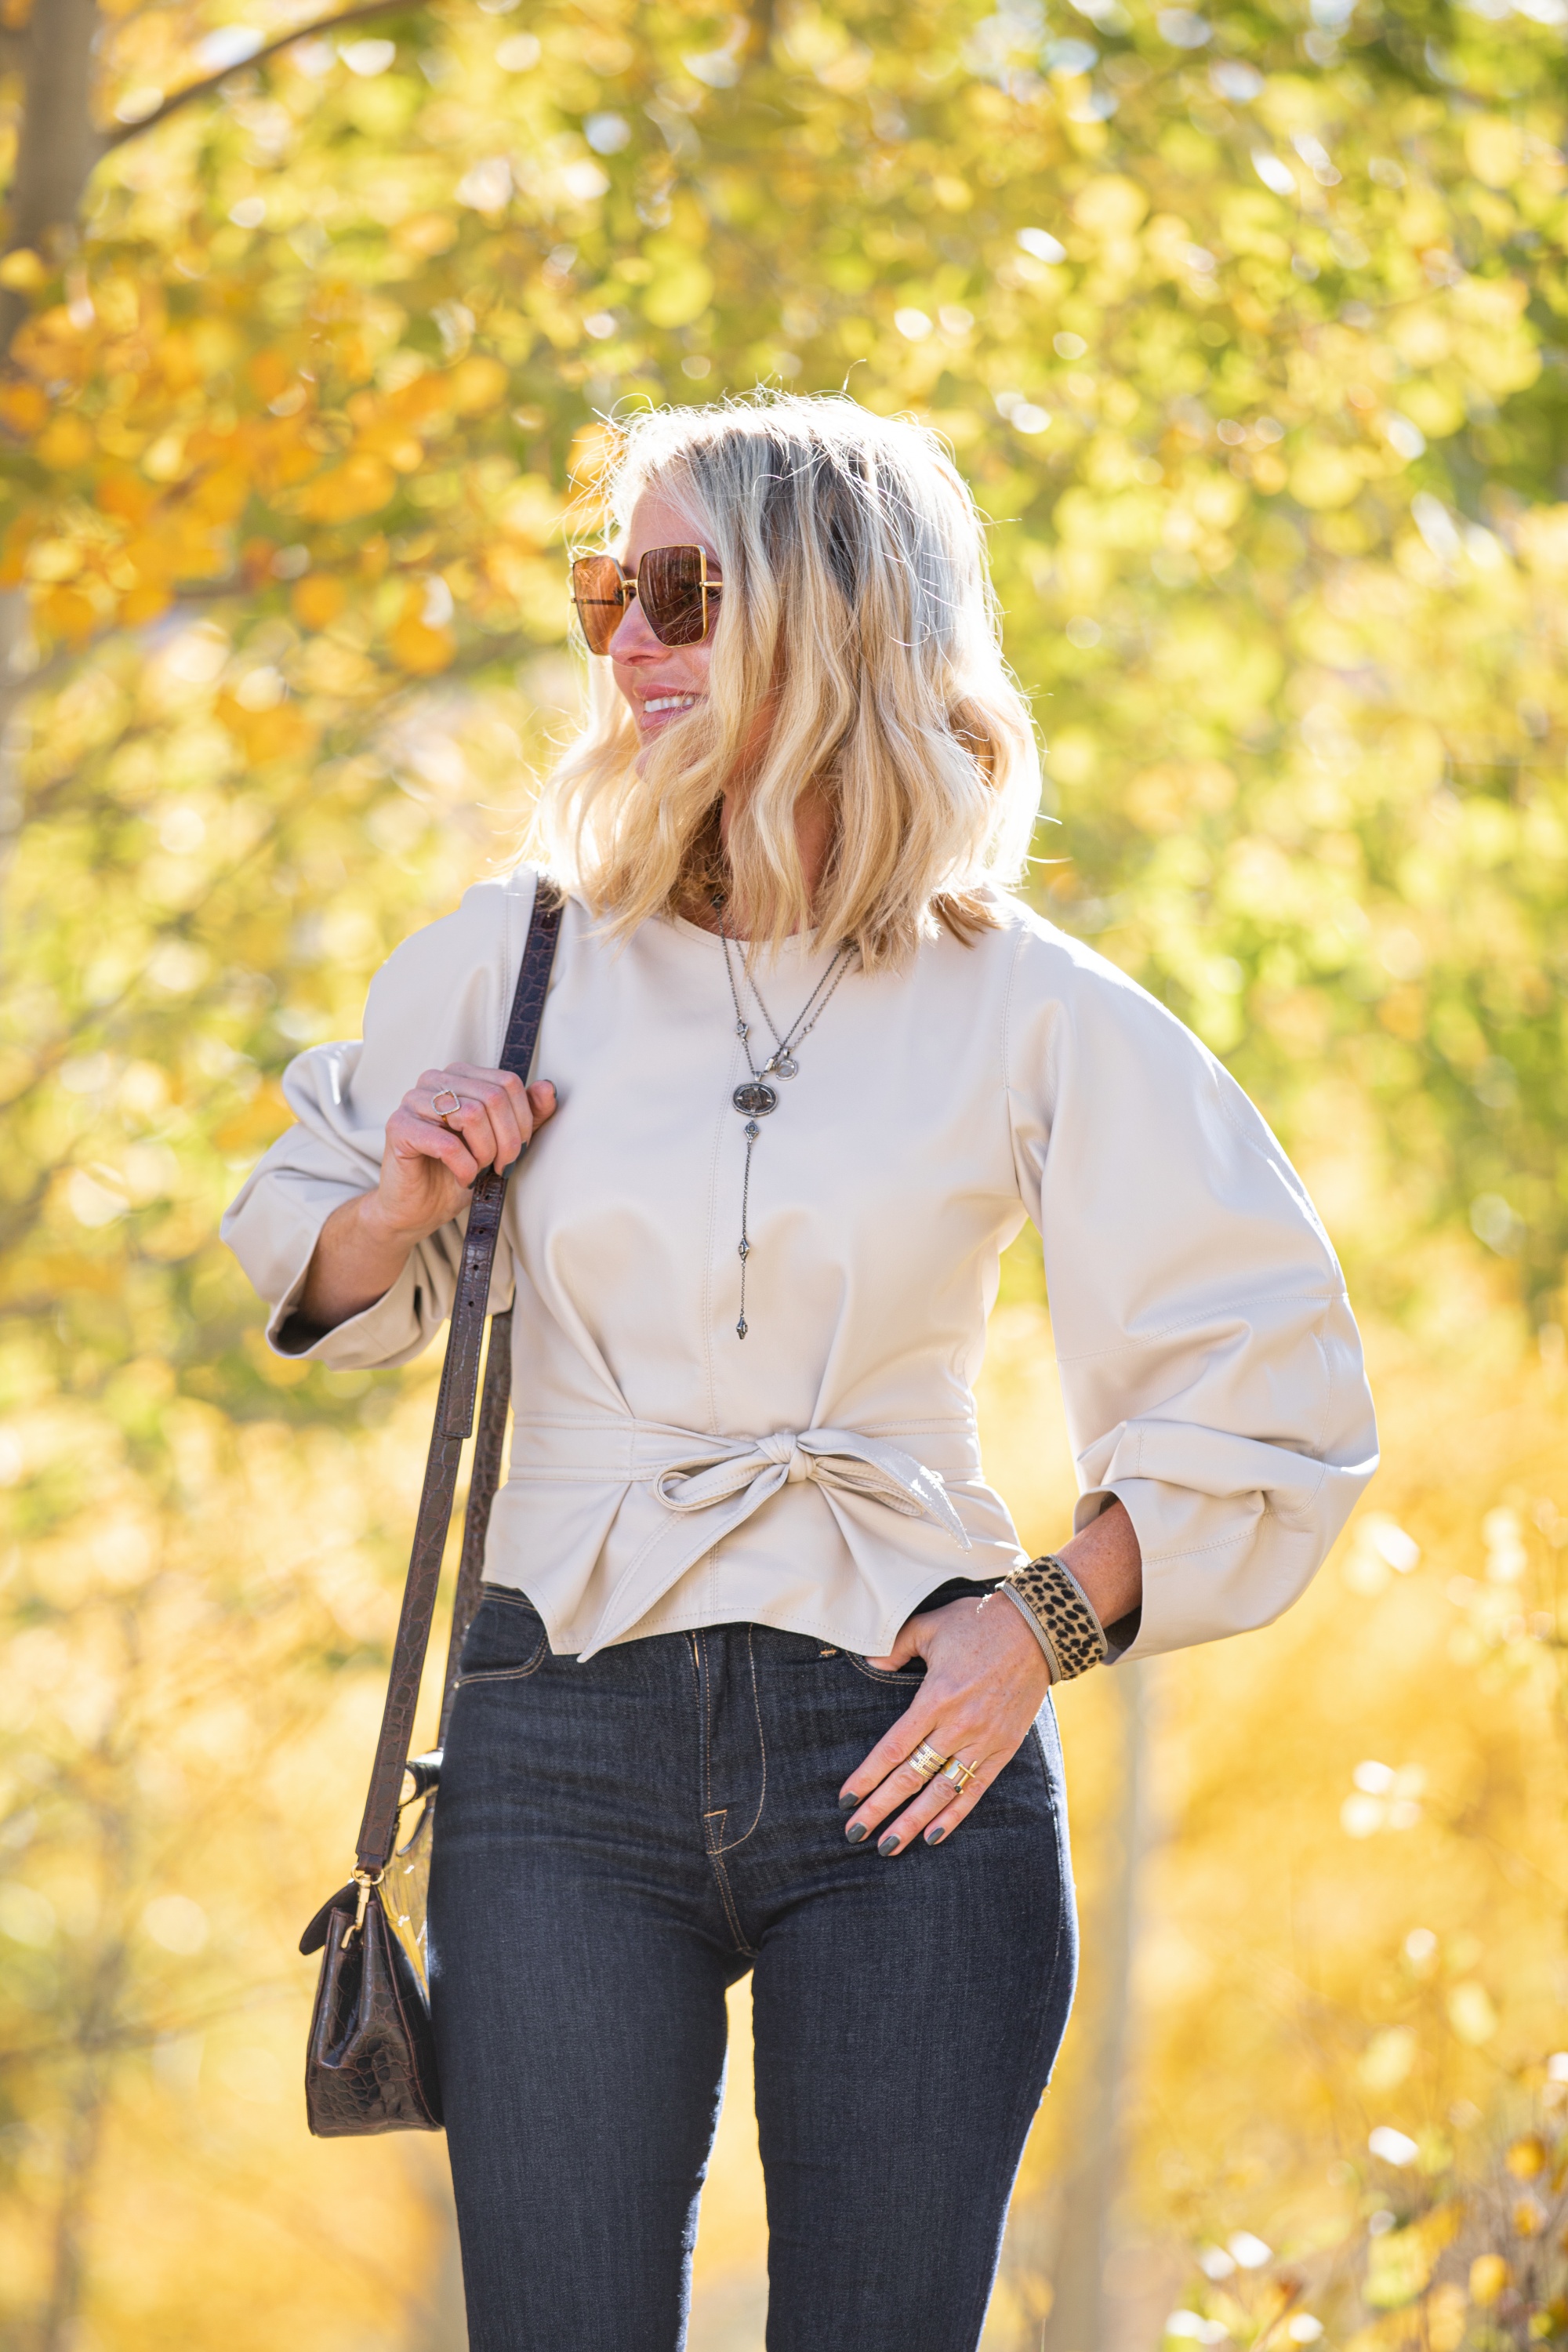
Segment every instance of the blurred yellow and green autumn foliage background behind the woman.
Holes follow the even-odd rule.
[[[0,0],[5,2345],[463,2345],[442,2143],[306,2138],[294,1955],[435,1364],[270,1359],[216,1218],[289,1054],[515,854],[602,421],[759,381],[957,452],[1030,889],[1286,1138],[1385,1430],[1281,1625],[1063,1698],[1084,1994],[985,2352],[1568,2336],[1566,45]],[[1060,1541],[1037,1247],[983,1409]],[[698,2352],[762,2347],[733,2023]]]

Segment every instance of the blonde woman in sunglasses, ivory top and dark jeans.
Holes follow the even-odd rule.
[[[649,416],[614,517],[543,802],[550,1075],[496,1070],[520,868],[292,1065],[228,1237],[275,1348],[402,1364],[538,1136],[430,1886],[475,2352],[682,2340],[745,1969],[771,2352],[961,2352],[1072,1994],[1048,1684],[1295,1599],[1371,1399],[1262,1120],[1006,896],[1039,774],[931,435]],[[1025,1216],[1081,1486],[1041,1562],[971,1395]]]

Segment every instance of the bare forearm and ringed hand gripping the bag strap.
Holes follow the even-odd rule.
[[[386,1122],[376,1190],[341,1202],[322,1225],[299,1319],[331,1331],[386,1298],[416,1242],[468,1207],[480,1169],[508,1169],[552,1115],[550,1080],[524,1087],[510,1070],[480,1070],[470,1061],[425,1070]]]

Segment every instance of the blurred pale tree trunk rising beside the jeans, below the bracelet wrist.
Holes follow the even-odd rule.
[[[1060,2204],[1058,2256],[1044,2352],[1107,2352],[1105,2258],[1110,2211],[1121,2176],[1121,2114],[1138,1933],[1138,1879],[1147,1846],[1145,1668],[1121,1665],[1121,1802],[1114,1835],[1121,1863],[1095,1922],[1093,1980],[1098,1987],[1095,2056],[1084,2084],[1084,2119]]]

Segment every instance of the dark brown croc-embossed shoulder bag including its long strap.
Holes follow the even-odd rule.
[[[562,901],[541,877],[534,898],[529,936],[522,950],[517,993],[501,1047],[501,1068],[524,1084],[538,1044],[538,1025],[555,962]],[[527,1143],[524,1143],[527,1152]],[[520,1160],[512,1162],[512,1169]],[[484,1310],[489,1277],[496,1263],[501,1211],[508,1176],[482,1169],[470,1195],[463,1265],[451,1305],[447,1362],[435,1402],[435,1430],[425,1461],[425,1484],[418,1498],[409,1581],[393,1642],[381,1736],[371,1764],[369,1795],[355,1849],[355,1875],[331,1896],[306,1933],[301,1952],[322,1952],[322,1976],[310,2018],[306,2056],[306,2112],[310,2131],[339,2138],[371,2131],[440,2131],[440,2084],[425,1990],[409,1955],[386,1919],[376,1889],[397,1842],[397,1809],[418,1684],[430,1644],[435,1595],[442,1581],[442,1555],[451,1524],[463,1442],[475,1421],[480,1355],[484,1350]],[[484,1404],[480,1409],[480,1444],[470,1479],[463,1564],[454,1609],[451,1651],[442,1726],[451,1700],[456,1653],[477,1599],[484,1562],[484,1526],[496,1491],[505,1409],[510,1399],[510,1315],[496,1315],[484,1364]],[[430,1776],[433,1778],[433,1776]]]

